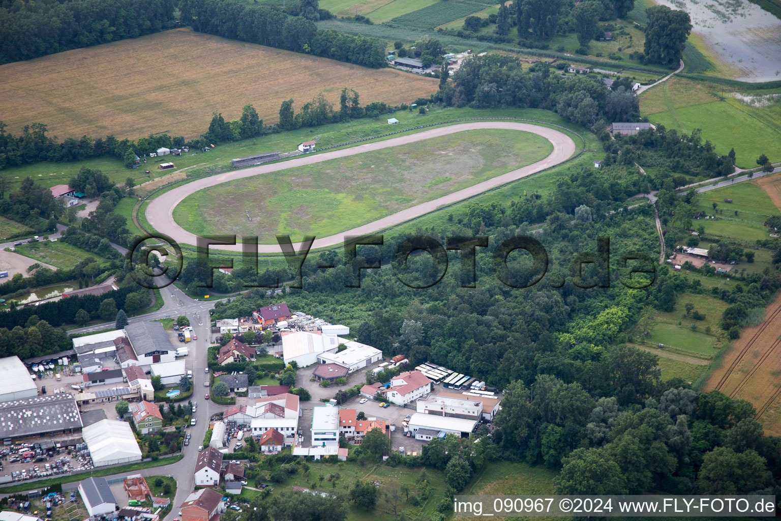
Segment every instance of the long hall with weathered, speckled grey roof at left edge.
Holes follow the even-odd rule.
[[[82,426],[79,408],[70,393],[44,394],[0,403],[0,439],[3,440],[73,434]]]

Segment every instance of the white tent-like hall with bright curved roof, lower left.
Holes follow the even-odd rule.
[[[102,419],[81,431],[96,467],[141,461],[141,449],[130,423]]]

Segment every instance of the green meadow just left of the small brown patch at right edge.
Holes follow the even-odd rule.
[[[763,223],[770,216],[781,215],[781,212],[759,187],[759,180],[761,178],[699,194],[695,211],[717,219],[694,220],[694,227],[702,225],[707,235],[729,237],[744,244],[769,238],[768,228]],[[724,202],[725,199],[733,202]]]

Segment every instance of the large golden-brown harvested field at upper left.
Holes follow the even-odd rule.
[[[208,67],[171,59],[193,49]],[[42,122],[60,139],[197,137],[212,112],[233,120],[251,103],[273,123],[284,100],[298,109],[322,91],[338,105],[344,87],[358,91],[363,105],[398,105],[430,95],[437,80],[176,29],[0,66],[0,114],[9,131]]]

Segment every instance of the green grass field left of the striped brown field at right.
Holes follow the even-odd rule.
[[[695,320],[691,314],[686,315],[686,304],[693,304],[692,314],[697,311],[705,319]],[[640,344],[665,344],[666,351],[710,359],[722,347],[723,332],[719,328],[719,320],[726,307],[726,302],[721,300],[684,293],[679,295],[672,312],[657,312],[650,323],[644,324],[650,335],[644,336],[641,328],[637,327],[636,337],[640,339]]]

